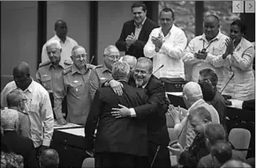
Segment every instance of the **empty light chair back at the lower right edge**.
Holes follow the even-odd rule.
[[[229,140],[237,150],[247,157],[247,152],[251,140],[251,133],[245,128],[232,128],[230,130]]]

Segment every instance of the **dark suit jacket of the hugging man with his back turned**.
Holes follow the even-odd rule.
[[[118,108],[118,104],[130,108],[147,103],[147,93],[127,83],[122,84],[122,96],[117,96],[110,87],[96,91],[85,126],[86,145],[92,144],[94,130],[99,120],[95,139],[96,153],[107,151],[147,156],[147,122],[136,117],[116,119],[111,115],[111,109]],[[90,149],[90,146],[87,148]]]

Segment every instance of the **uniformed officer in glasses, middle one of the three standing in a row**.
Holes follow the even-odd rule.
[[[57,91],[56,98],[63,99],[66,96],[68,122],[85,125],[91,106],[89,76],[94,66],[87,64],[87,52],[84,47],[73,47],[71,58],[72,65],[64,69],[64,90]]]

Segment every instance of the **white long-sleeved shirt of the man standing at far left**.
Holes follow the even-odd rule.
[[[1,92],[1,107],[7,106],[6,96],[10,91],[17,89],[14,81],[5,85]],[[54,118],[50,104],[49,93],[41,84],[35,81],[23,91],[26,96],[26,113],[30,120],[30,134],[34,148],[42,145],[49,146],[54,127]]]

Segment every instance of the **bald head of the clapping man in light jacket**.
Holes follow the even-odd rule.
[[[200,84],[197,84],[195,82],[189,82],[187,84],[184,84],[183,95],[184,103],[187,107],[192,106],[192,104],[197,100],[203,99],[203,93],[200,88]],[[187,103],[190,105],[188,105]]]

